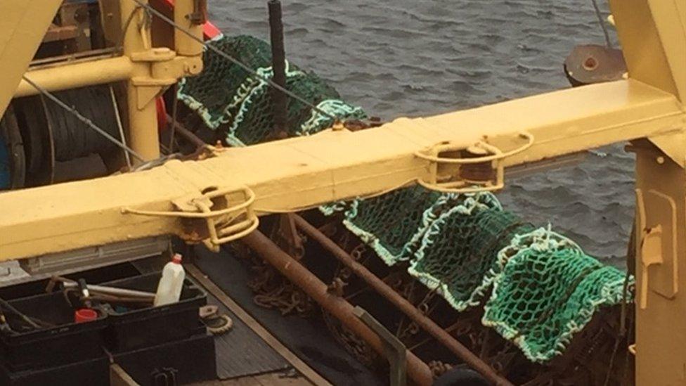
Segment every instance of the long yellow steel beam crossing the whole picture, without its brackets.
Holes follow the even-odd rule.
[[[202,161],[170,161],[122,174],[0,194],[0,260],[165,233],[200,240],[207,232],[178,217],[190,198],[214,188],[247,186],[257,212],[294,211],[372,195],[427,179],[427,148],[467,148],[486,141],[503,151],[528,150],[505,165],[543,160],[608,143],[682,134],[685,115],[674,96],[633,80],[556,91],[517,101],[438,115],[401,118],[364,131],[329,130],[247,148],[228,148]],[[124,210],[127,209],[127,210]]]

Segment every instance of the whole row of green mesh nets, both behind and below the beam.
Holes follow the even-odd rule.
[[[220,36],[209,44],[271,77],[266,42]],[[274,125],[268,84],[212,51],[203,59],[205,71],[181,81],[179,99],[207,127],[226,131],[233,146],[267,140]],[[286,74],[289,91],[339,120],[367,117],[313,73],[287,63]],[[292,98],[287,108],[290,136],[315,134],[333,123]],[[534,362],[562,354],[601,307],[633,301],[623,293],[624,272],[586,255],[550,226],[523,222],[491,193],[437,193],[414,186],[320,210],[342,213],[344,226],[386,264],[407,262],[408,273],[454,309],[485,304],[481,323]]]

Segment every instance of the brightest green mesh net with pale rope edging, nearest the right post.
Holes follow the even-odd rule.
[[[602,306],[623,301],[626,274],[585,255],[550,229],[515,236],[499,255],[482,323],[512,340],[531,361],[548,361]]]

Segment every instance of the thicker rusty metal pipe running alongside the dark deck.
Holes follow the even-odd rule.
[[[260,231],[253,231],[241,241],[365,340],[376,352],[384,355],[384,345],[381,338],[355,316],[352,304],[342,297],[330,293],[325,283],[286,252],[283,252],[272,240],[269,240]],[[409,351],[407,352],[407,371],[409,377],[417,385],[431,385],[433,382],[433,375],[429,366]]]

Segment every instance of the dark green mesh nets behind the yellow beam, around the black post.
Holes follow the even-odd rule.
[[[183,79],[178,96],[194,110],[210,129],[226,130],[226,141],[245,146],[270,139],[273,134],[271,87],[271,49],[260,39],[249,36],[220,36],[209,42],[257,75],[222,58],[214,51],[203,54],[205,70],[198,77]],[[286,62],[286,89],[339,120],[365,119],[365,112],[340,100],[335,89],[311,72]],[[306,103],[287,98],[287,134],[304,136],[331,127],[332,118]]]

